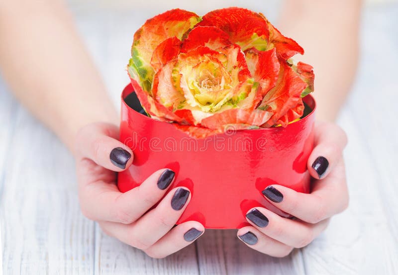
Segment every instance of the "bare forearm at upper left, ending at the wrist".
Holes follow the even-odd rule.
[[[104,84],[57,0],[0,4],[0,70],[15,96],[74,151],[75,134],[117,122]]]

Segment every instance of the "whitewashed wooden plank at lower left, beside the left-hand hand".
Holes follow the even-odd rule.
[[[94,222],[80,213],[74,162],[19,107],[8,146],[1,220],[5,274],[93,274]]]

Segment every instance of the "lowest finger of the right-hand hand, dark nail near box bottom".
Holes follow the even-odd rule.
[[[286,257],[293,250],[293,247],[262,234],[253,226],[242,227],[237,235],[248,247],[272,257]]]

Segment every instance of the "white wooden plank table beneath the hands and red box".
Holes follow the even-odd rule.
[[[79,28],[118,102],[131,30],[142,16],[133,14],[141,19],[131,23],[131,14],[115,14],[81,18]],[[235,230],[208,230],[162,260],[105,236],[80,213],[71,155],[0,83],[4,275],[398,274],[397,14],[391,4],[363,18],[358,79],[339,119],[349,136],[350,206],[312,244],[284,259],[249,249]]]

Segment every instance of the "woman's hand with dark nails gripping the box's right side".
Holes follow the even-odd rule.
[[[293,215],[287,219],[263,207],[246,214],[253,226],[238,230],[238,237],[249,247],[274,257],[285,257],[294,248],[308,245],[327,226],[329,218],[348,206],[348,189],[342,151],[345,132],[333,123],[315,126],[315,147],[308,159],[313,179],[310,194],[270,185],[264,196],[279,209]]]

